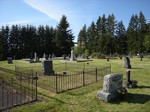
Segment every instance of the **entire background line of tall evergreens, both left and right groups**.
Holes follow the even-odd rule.
[[[30,58],[31,53],[70,54],[74,47],[74,36],[69,29],[65,15],[56,28],[49,25],[38,27],[32,25],[1,26],[0,28],[0,60],[8,56],[16,59]],[[103,14],[97,21],[84,25],[79,31],[77,46],[74,51],[78,55],[127,55],[129,53],[150,53],[150,23],[142,12],[132,15],[126,29],[122,21],[117,21],[113,14]]]

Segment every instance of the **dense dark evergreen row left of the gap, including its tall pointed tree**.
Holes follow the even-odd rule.
[[[0,60],[7,57],[30,58],[31,54],[70,54],[74,36],[66,16],[62,16],[56,28],[32,25],[6,25],[0,29]]]

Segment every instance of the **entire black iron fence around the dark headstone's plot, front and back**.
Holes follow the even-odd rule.
[[[78,64],[55,64],[55,74],[42,75],[41,67],[16,67],[16,72],[24,75],[33,74],[37,70],[38,87],[61,93],[70,89],[85,86],[100,81],[104,75],[111,73],[111,66],[91,67],[88,63]],[[57,71],[57,72],[56,72]]]

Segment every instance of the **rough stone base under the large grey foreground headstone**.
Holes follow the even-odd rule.
[[[97,98],[105,102],[113,101],[117,97],[119,97],[119,95],[115,93],[106,93],[103,92],[103,90],[97,92]]]

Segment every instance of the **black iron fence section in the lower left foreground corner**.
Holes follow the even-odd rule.
[[[0,77],[0,111],[37,101],[37,75]]]

